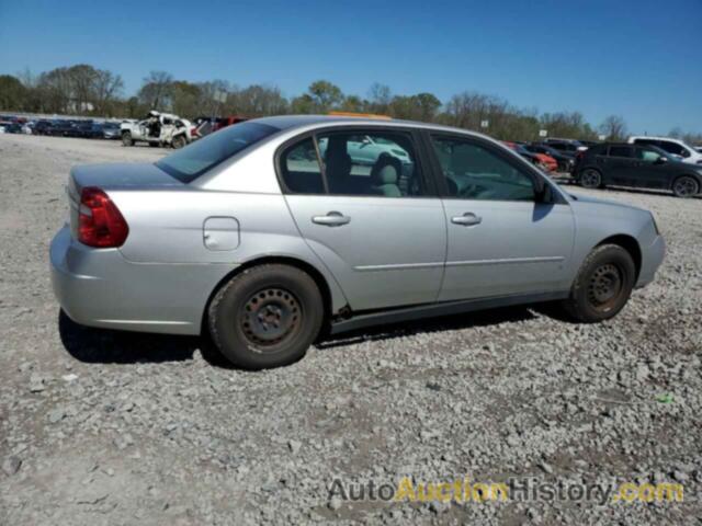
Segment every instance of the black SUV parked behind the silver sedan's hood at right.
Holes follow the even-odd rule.
[[[692,197],[702,188],[702,165],[673,159],[656,146],[602,144],[577,160],[575,180],[587,188],[607,185],[671,191]]]

